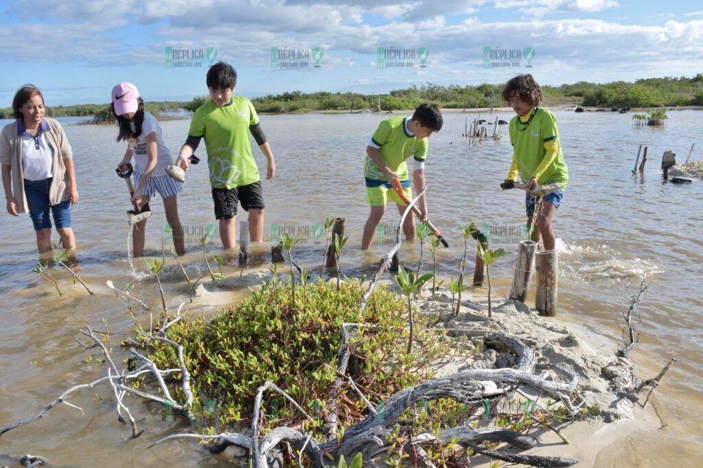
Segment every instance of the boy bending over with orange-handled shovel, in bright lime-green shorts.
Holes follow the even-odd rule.
[[[366,226],[363,228],[361,249],[371,247],[376,228],[387,202],[395,202],[401,216],[405,212],[406,203],[401,200],[392,188],[394,178],[399,178],[408,198],[412,198],[408,165],[405,160],[413,156],[413,184],[420,192],[425,187],[425,160],[427,159],[427,138],[432,132],[439,131],[442,126],[439,108],[434,104],[422,104],[415,109],[412,118],[391,117],[380,123],[371,141],[366,147],[366,201],[371,206]],[[418,200],[418,208],[422,213],[420,221],[427,219],[427,201],[425,195]],[[408,213],[403,224],[403,231],[408,240],[415,238],[415,216]]]

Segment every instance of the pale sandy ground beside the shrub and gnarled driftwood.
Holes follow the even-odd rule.
[[[536,448],[509,451],[520,455],[574,458],[579,460],[580,467],[613,464],[639,466],[633,458],[632,450],[628,450],[633,439],[644,441],[650,437],[659,437],[661,433],[657,434],[658,429],[664,423],[654,408],[657,404],[655,397],[650,399],[645,409],[622,397],[632,388],[636,370],[628,360],[616,357],[619,346],[617,339],[605,332],[559,317],[541,317],[536,310],[506,299],[494,299],[493,318],[489,320],[484,292],[479,292],[480,295],[472,293],[463,301],[461,312],[456,318],[451,313],[451,296],[446,292],[418,301],[415,305],[425,315],[439,314],[441,322],[447,327],[487,328],[522,339],[536,350],[538,362],[558,364],[579,376],[576,394],[583,398],[584,406],[597,404],[602,408],[599,415],[590,415],[585,421],[558,426],[569,444],[564,443],[553,431],[532,431],[529,435],[539,436],[541,441]],[[467,365],[491,367],[491,361],[501,363],[501,358],[498,356],[496,359],[495,353],[489,350],[482,353],[475,363],[455,363],[443,369],[442,374],[456,372]],[[530,394],[529,389],[523,390]],[[643,392],[643,396],[646,393]],[[640,401],[644,400],[643,396]],[[546,405],[546,398],[540,398],[534,393],[531,397],[538,405]],[[480,467],[489,467],[491,464],[487,457],[473,457],[472,461],[480,462],[476,465]]]

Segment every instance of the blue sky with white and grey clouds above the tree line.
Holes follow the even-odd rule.
[[[25,83],[47,105],[107,103],[118,82],[145,100],[191,100],[207,93],[218,60],[250,98],[498,84],[526,72],[553,85],[703,72],[701,1],[0,0],[0,13],[0,107]],[[195,59],[176,53],[169,68],[168,47]],[[272,48],[304,58],[276,70]],[[379,48],[412,66],[379,63]],[[317,62],[305,59],[313,51]],[[519,55],[492,58],[501,53]]]

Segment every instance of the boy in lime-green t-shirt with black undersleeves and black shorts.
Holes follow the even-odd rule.
[[[262,242],[264,193],[249,134],[254,136],[266,157],[266,179],[273,178],[276,173],[271,147],[251,101],[243,96],[233,96],[237,85],[234,68],[228,63],[218,62],[207,71],[206,81],[210,99],[193,113],[188,138],[176,165],[187,170],[188,158],[198,148],[200,139],[205,138],[215,219],[219,221],[224,249],[236,245],[239,203],[245,212],[249,212],[250,240]]]

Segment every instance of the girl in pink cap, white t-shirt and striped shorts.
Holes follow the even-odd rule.
[[[166,210],[166,221],[173,229],[176,253],[183,255],[183,227],[178,216],[176,195],[181,191],[181,183],[166,174],[165,167],[173,164],[173,159],[164,144],[161,126],[156,117],[144,110],[144,101],[139,91],[131,83],[120,83],[112,88],[112,114],[120,126],[117,141],[127,140],[129,145],[122,162],[117,166],[120,172],[129,169],[134,156],[134,197],[132,202],[141,208],[155,193],[161,195]],[[134,256],[144,255],[144,228],[146,219],[134,225]]]

